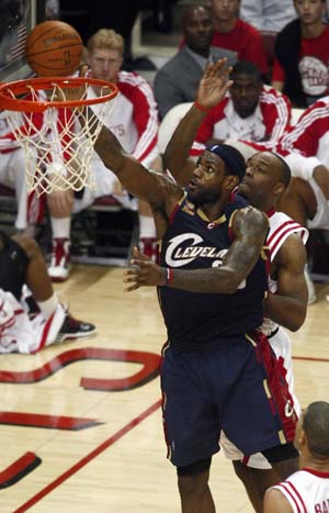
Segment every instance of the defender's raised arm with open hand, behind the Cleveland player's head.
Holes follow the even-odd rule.
[[[232,83],[228,80],[231,68],[224,69],[226,60],[223,58],[207,66],[200,81],[195,102],[180,121],[164,150],[164,166],[181,186],[189,183],[195,168],[189,154],[200,125],[208,111],[223,100]]]

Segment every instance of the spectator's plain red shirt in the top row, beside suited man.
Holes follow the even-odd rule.
[[[237,19],[235,27],[226,33],[215,31],[212,45],[237,52],[239,60],[250,60],[264,75],[269,71],[262,36],[246,21]]]

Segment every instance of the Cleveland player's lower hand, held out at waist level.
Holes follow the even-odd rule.
[[[132,283],[125,288],[125,292],[132,292],[139,287],[155,287],[166,283],[166,268],[158,266],[149,257],[143,255],[137,247],[133,250],[131,265],[132,267],[124,271],[124,282]]]

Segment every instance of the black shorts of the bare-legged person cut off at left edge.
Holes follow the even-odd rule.
[[[5,233],[0,232],[0,288],[20,301],[30,260],[24,249]]]

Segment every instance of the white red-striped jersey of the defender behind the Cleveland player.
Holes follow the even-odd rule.
[[[273,210],[268,212],[268,218],[270,220],[270,231],[266,238],[266,247],[270,250],[271,263],[274,260],[283,243],[292,234],[298,233],[303,243],[306,244],[308,238],[308,231],[296,221],[293,221],[288,215],[284,214],[283,212],[276,212]],[[269,290],[272,293],[275,293],[277,290],[277,282],[271,277],[269,278]],[[276,327],[276,323],[270,319],[264,319],[261,330],[263,333],[269,335]]]

